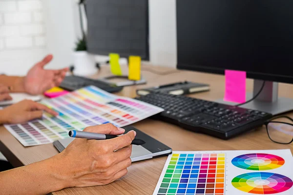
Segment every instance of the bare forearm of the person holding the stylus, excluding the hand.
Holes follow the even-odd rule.
[[[41,195],[61,190],[66,181],[58,173],[53,157],[0,173],[3,195]]]

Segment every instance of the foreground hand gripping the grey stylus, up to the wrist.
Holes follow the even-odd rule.
[[[112,124],[87,127],[87,132],[120,135],[124,129]],[[66,187],[105,185],[127,174],[131,164],[131,142],[136,132],[106,140],[74,139],[66,149],[54,156],[57,173]],[[115,152],[114,152],[115,151]]]

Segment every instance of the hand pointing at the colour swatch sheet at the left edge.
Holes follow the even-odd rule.
[[[35,118],[41,118],[43,111],[56,116],[57,113],[50,108],[32,100],[22,100],[14,105],[0,110],[0,123],[21,123]]]

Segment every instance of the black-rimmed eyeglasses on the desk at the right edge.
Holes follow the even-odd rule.
[[[290,117],[274,117],[265,122],[268,136],[273,142],[290,144],[293,142],[293,119]]]

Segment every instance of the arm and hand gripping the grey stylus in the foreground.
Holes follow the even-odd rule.
[[[121,135],[112,124],[84,131]],[[62,153],[46,160],[0,173],[1,193],[47,194],[67,187],[105,185],[127,174],[131,165],[131,141],[136,133],[107,140],[74,139]]]

